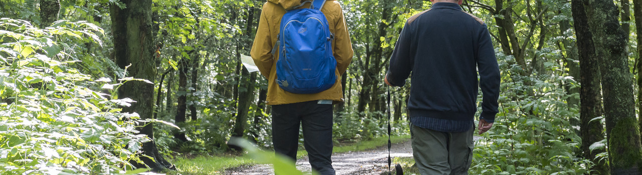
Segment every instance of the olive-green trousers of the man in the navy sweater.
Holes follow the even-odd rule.
[[[415,165],[422,175],[468,174],[473,162],[473,131],[448,133],[410,124]]]

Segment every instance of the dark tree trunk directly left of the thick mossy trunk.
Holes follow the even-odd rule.
[[[604,139],[601,121],[590,122],[591,119],[602,116],[602,94],[600,94],[600,67],[595,55],[593,35],[589,31],[586,12],[582,0],[571,1],[573,21],[577,35],[578,60],[580,60],[580,137],[584,158],[593,161],[591,170],[597,174],[609,174],[609,165],[605,160],[596,159],[599,150],[591,151],[589,146]]]

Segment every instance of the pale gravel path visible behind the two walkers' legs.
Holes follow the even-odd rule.
[[[412,147],[410,141],[392,144],[390,156],[394,157],[412,157]],[[388,170],[388,147],[378,147],[369,151],[335,153],[332,155],[332,165],[336,174],[376,174],[379,175]],[[308,158],[297,160],[297,169],[303,172],[310,172],[310,163]],[[271,165],[253,165],[248,167],[239,167],[230,169],[223,174],[233,175],[273,175]]]

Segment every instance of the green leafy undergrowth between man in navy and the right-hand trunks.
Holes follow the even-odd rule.
[[[521,69],[506,62],[510,57],[504,59],[499,113],[476,143],[469,173],[587,174],[593,163],[577,156],[582,141],[569,122],[579,120],[578,106],[566,103],[578,94],[567,94],[560,84],[577,82],[558,73],[519,76]]]

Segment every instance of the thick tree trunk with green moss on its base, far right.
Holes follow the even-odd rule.
[[[600,58],[602,94],[613,174],[642,174],[642,144],[634,112],[632,79],[625,47],[628,35],[621,29],[613,1],[584,0],[597,58]]]

